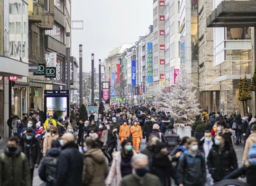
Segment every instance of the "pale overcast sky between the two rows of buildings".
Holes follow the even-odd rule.
[[[91,53],[98,60],[122,43],[135,43],[153,24],[152,0],[73,0],[72,20],[83,20],[84,30],[72,30],[72,55],[79,60],[83,45],[83,72],[91,71]]]

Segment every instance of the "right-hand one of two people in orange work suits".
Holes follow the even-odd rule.
[[[131,134],[134,149],[138,153],[140,151],[140,142],[141,139],[143,138],[143,132],[141,131],[140,125],[138,125],[138,121],[134,121],[134,125],[131,126]]]

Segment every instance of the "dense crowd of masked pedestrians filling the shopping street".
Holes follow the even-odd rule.
[[[40,113],[8,120],[0,186],[31,186],[37,168],[46,186],[210,186],[239,176],[256,185],[256,118],[248,114],[226,118],[203,111],[195,116],[206,125],[199,141],[180,138],[174,118],[154,105],[111,105],[74,122],[54,116],[44,121]],[[239,167],[233,144],[241,140]]]

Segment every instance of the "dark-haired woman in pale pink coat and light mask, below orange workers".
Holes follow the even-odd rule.
[[[119,185],[123,177],[131,174],[131,158],[136,154],[132,148],[131,141],[122,141],[122,149],[113,154],[113,162],[111,168],[109,169],[109,176],[107,179],[107,185],[112,185],[113,179],[116,177],[116,184]]]

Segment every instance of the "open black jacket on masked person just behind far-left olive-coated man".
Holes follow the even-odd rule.
[[[40,158],[41,158],[41,149],[40,149],[40,145],[37,141],[37,138],[35,138],[33,136],[33,138],[31,139],[31,141],[30,141],[30,152],[27,152],[26,145],[28,145],[28,141],[26,139],[26,135],[24,135],[19,140],[19,146],[21,147],[22,152],[24,152],[24,154],[26,154],[28,159],[29,159],[28,154],[31,154],[34,165],[35,164],[39,165]]]

